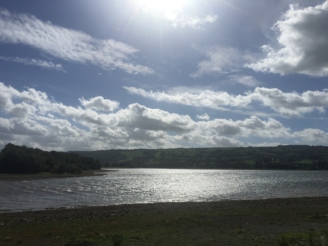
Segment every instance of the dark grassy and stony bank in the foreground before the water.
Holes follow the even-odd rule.
[[[278,245],[285,232],[322,229],[328,197],[0,213],[0,245]]]

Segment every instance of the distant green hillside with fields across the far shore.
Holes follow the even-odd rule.
[[[328,147],[277,146],[78,151],[110,168],[328,169]]]

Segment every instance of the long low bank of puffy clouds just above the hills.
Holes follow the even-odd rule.
[[[328,133],[320,129],[292,132],[271,117],[210,119],[204,113],[197,116],[204,120],[196,121],[137,103],[118,108],[117,101],[101,96],[80,98],[80,106],[72,107],[33,88],[18,91],[0,83],[0,91],[1,145],[13,142],[45,150],[238,147],[250,136],[262,142],[328,143]]]

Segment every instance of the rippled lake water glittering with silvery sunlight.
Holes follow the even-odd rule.
[[[328,172],[122,169],[0,181],[0,212],[122,203],[328,196]]]

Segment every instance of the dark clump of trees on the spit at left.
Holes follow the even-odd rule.
[[[0,151],[0,173],[74,173],[98,170],[100,161],[75,152],[43,151],[7,144]]]

